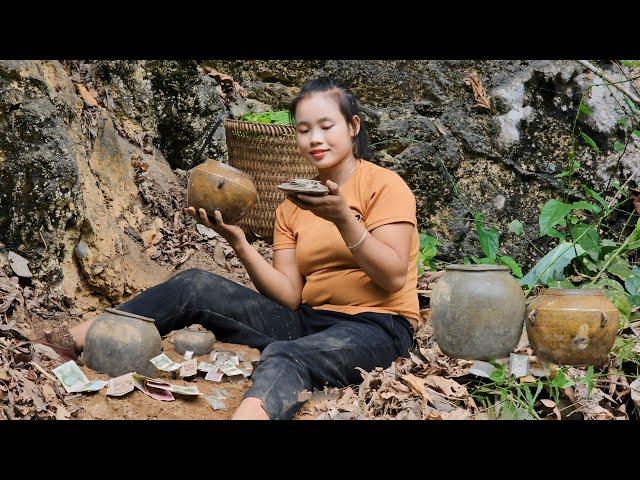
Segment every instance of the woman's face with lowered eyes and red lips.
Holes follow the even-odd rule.
[[[318,169],[338,165],[353,155],[353,137],[360,118],[347,124],[338,104],[329,95],[312,94],[296,108],[296,142],[304,158]]]

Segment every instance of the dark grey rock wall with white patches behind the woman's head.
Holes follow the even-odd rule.
[[[527,237],[544,247],[537,239],[540,206],[562,193],[554,175],[568,165],[582,93],[602,84],[574,61],[208,63],[240,79],[248,98],[273,109],[286,108],[297,87],[315,76],[343,80],[364,104],[373,161],[397,171],[412,188],[420,228],[442,238],[443,258],[455,262],[481,254],[469,221],[473,210],[498,228],[502,254],[527,266],[538,254],[506,226],[519,219]],[[465,81],[473,71],[491,99],[491,110],[474,107]],[[620,73],[612,76],[624,79]],[[583,169],[577,177],[596,189],[612,176],[620,183],[632,176],[630,185],[637,185],[640,139],[631,139],[617,168],[619,155],[613,151],[615,140],[624,138],[618,121],[630,114],[621,94],[594,86],[585,103],[593,114],[581,116],[578,128],[595,139],[603,154],[596,156],[578,142],[576,160]]]

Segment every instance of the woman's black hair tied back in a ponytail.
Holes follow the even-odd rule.
[[[371,146],[369,133],[362,118],[362,106],[356,96],[349,91],[347,86],[330,77],[320,77],[304,84],[300,93],[293,99],[289,107],[291,123],[295,124],[296,108],[303,98],[313,93],[328,93],[334,96],[342,116],[351,125],[354,115],[360,117],[360,131],[353,139],[353,156],[356,158],[371,159]]]

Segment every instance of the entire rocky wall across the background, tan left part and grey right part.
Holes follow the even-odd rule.
[[[473,71],[491,109],[475,106]],[[117,302],[169,275],[143,250],[178,207],[176,172],[194,166],[225,111],[216,72],[241,87],[229,105],[236,115],[285,109],[318,75],[349,84],[364,105],[372,161],[406,180],[420,229],[441,238],[448,261],[480,253],[472,211],[496,224],[502,254],[525,266],[537,258],[506,225],[519,219],[544,247],[539,208],[561,194],[555,175],[585,91],[593,113],[578,128],[603,153],[578,142],[577,175],[596,189],[612,177],[640,180],[640,139],[622,157],[613,150],[633,112],[572,61],[0,61],[0,252],[27,258],[34,284],[70,302]],[[221,128],[203,159],[225,153]]]

